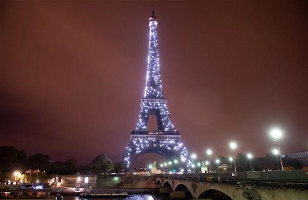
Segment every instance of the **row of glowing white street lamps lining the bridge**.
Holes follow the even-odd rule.
[[[274,155],[276,155],[276,158],[277,158],[277,156],[279,156],[279,159],[280,159],[280,165],[281,165],[281,169],[283,170],[283,164],[282,164],[282,159],[281,159],[281,151],[280,151],[280,146],[279,146],[279,142],[278,142],[278,139],[280,139],[281,138],[281,136],[282,136],[282,131],[281,131],[281,129],[279,129],[279,128],[273,128],[273,129],[271,129],[270,130],[270,136],[272,137],[272,139],[273,139],[273,143],[276,145],[277,144],[277,147],[278,147],[278,149],[276,149],[276,148],[274,148],[274,149],[272,149],[272,153],[274,154]],[[233,164],[233,162],[234,162],[234,170],[235,170],[235,172],[237,172],[237,170],[236,170],[236,156],[235,156],[235,151],[236,151],[236,149],[237,149],[237,144],[236,144],[236,142],[230,142],[230,144],[229,144],[229,146],[230,146],[230,148],[231,148],[231,150],[233,151],[233,156],[230,156],[229,157],[229,161],[230,161],[230,163],[231,163],[231,168],[232,168],[232,164]],[[210,160],[211,159],[211,156],[212,156],[212,154],[213,154],[213,151],[212,151],[212,149],[207,149],[206,150],[206,154],[207,154],[207,157],[208,157],[208,159]],[[253,168],[252,168],[252,165],[251,165],[251,159],[253,159],[253,155],[252,155],[252,153],[247,153],[246,154],[246,156],[247,156],[247,159],[249,160],[249,162],[250,162],[250,169],[251,169],[251,171],[253,171]],[[191,158],[193,159],[193,160],[196,160],[197,159],[197,155],[195,154],[195,153],[193,153],[193,154],[191,154]],[[278,158],[277,158],[278,159]],[[182,162],[185,162],[185,160],[181,160]],[[168,162],[165,162],[165,163],[161,163],[160,164],[160,167],[161,168],[164,168],[164,167],[168,167],[168,166],[171,166],[171,165],[173,165],[173,164],[178,164],[178,160],[173,160],[173,162],[172,161],[168,161]],[[278,162],[278,160],[277,160],[277,162]],[[217,165],[219,165],[219,163],[220,163],[220,160],[219,159],[216,159],[215,160],[215,163],[217,164]],[[201,166],[201,163],[200,162],[197,162],[197,163],[192,163],[191,164],[191,168],[195,168],[196,167],[196,165],[198,166],[198,167],[200,167]],[[209,168],[210,168],[210,171],[212,171],[212,166],[211,166],[211,162],[210,161],[208,161],[208,160],[206,160],[205,161],[205,165],[206,166],[208,166]],[[149,165],[149,168],[152,168],[152,165]],[[184,170],[183,169],[181,169],[181,172],[183,172]]]

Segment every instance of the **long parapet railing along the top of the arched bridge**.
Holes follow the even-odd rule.
[[[198,174],[161,174],[158,177],[175,178],[185,180],[207,180],[208,177],[218,180],[236,181],[275,181],[275,182],[304,182],[308,183],[308,172],[305,170],[288,171],[251,171],[251,172],[222,172],[222,173],[198,173]]]

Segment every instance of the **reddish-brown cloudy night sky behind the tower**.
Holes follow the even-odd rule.
[[[234,140],[264,156],[274,126],[282,154],[308,149],[304,0],[1,1],[0,145],[119,160],[140,111],[153,3],[164,95],[190,152],[229,156]]]

